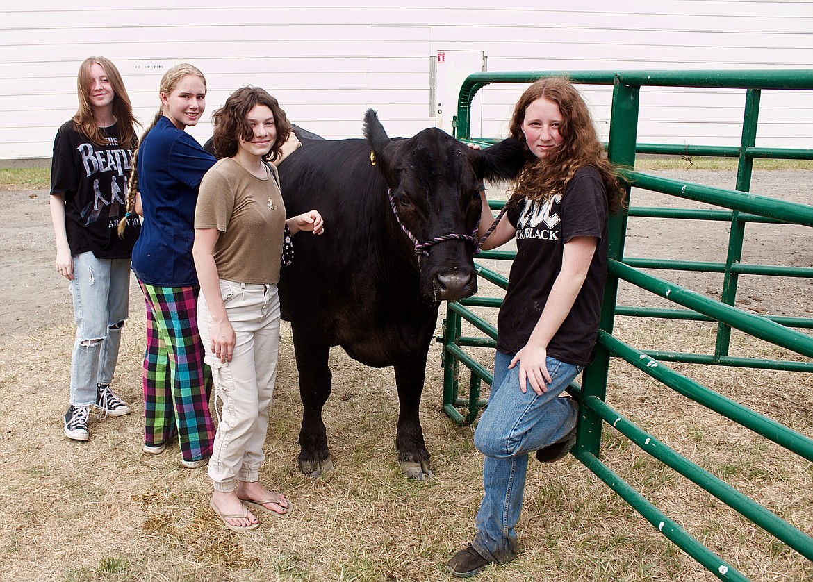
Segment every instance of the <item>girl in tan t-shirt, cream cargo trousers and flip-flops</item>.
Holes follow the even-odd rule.
[[[287,515],[289,501],[259,482],[280,350],[280,256],[286,230],[322,234],[317,211],[285,219],[276,162],[291,126],[276,98],[237,89],[212,116],[219,161],[203,177],[193,257],[198,318],[222,414],[209,462],[211,506],[227,528],[254,529],[251,512]],[[250,510],[250,509],[251,510]]]

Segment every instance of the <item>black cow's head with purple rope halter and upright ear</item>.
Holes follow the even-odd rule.
[[[397,214],[420,245],[429,244],[420,252],[421,293],[434,301],[476,293],[471,237],[480,219],[480,184],[510,180],[520,172],[520,142],[509,138],[472,150],[437,128],[393,141],[372,109],[364,117],[364,136],[392,195],[393,221]],[[413,244],[406,234],[397,236]]]

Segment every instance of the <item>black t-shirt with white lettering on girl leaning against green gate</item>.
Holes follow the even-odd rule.
[[[607,272],[607,200],[601,175],[583,167],[567,183],[564,196],[546,202],[526,198],[511,204],[517,254],[498,316],[497,349],[513,354],[528,343],[562,268],[562,250],[573,237],[598,237],[587,278],[576,302],[551,338],[547,354],[585,366],[598,333]]]

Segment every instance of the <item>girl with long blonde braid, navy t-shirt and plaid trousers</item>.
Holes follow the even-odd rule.
[[[206,79],[190,64],[164,74],[161,108],[141,137],[128,204],[129,212],[141,206],[144,217],[133,250],[147,318],[144,451],[161,454],[177,435],[181,464],[190,469],[207,464],[215,438],[192,261],[198,186],[215,158],[185,132],[201,119],[206,92]]]

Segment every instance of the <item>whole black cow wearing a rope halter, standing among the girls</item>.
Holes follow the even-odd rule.
[[[390,140],[372,109],[366,141],[298,135],[302,148],[280,164],[285,208],[316,208],[325,224],[322,237],[296,237],[279,286],[304,406],[299,467],[314,477],[333,467],[322,408],[328,351],[341,345],[367,366],[395,367],[398,463],[423,480],[432,468],[418,406],[437,308],[476,292],[479,185],[515,176],[522,148],[509,139],[472,150],[437,128]],[[406,231],[423,245],[417,252]]]

